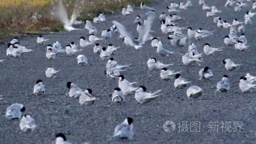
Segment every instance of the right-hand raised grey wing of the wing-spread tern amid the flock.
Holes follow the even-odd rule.
[[[151,26],[154,20],[155,20],[155,14],[154,13],[149,14],[149,16],[147,17],[146,23],[144,24],[143,28],[139,32],[139,45],[145,43],[147,39],[147,35],[149,34],[149,31],[151,29]]]

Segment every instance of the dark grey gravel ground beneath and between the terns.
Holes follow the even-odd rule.
[[[158,0],[157,0],[158,1]],[[174,0],[176,3],[178,0]],[[182,0],[185,1],[185,0]],[[162,3],[163,2],[163,3]],[[243,8],[242,12],[235,12],[233,8],[225,8],[226,0],[208,0],[209,5],[216,5],[223,12],[219,14],[223,20],[232,23],[237,18],[243,21],[244,13],[249,7]],[[159,0],[154,7],[157,10],[157,16],[162,12],[168,12],[166,5],[171,1],[164,2]],[[192,27],[197,29],[215,30],[214,35],[206,37],[201,41],[192,41],[199,48],[203,49],[204,43],[210,43],[213,47],[224,46],[222,37],[228,35],[228,29],[219,29],[213,23],[213,19],[206,17],[206,11],[198,5],[198,0],[192,0],[193,7],[187,11],[181,11],[180,16],[186,17],[186,20],[180,21],[180,27]],[[252,5],[252,2],[250,3]],[[136,27],[133,21],[136,15],[145,13],[145,11],[136,10],[132,15],[124,17],[117,14],[107,15],[107,21],[104,24],[93,24],[98,31],[112,26],[111,21],[117,20],[124,24],[134,35],[137,35]],[[81,25],[84,27],[84,24]],[[163,46],[186,53],[188,45],[183,48],[174,47],[168,41],[168,35],[163,35],[160,31],[160,22],[153,24],[152,30],[157,37],[163,38]],[[246,51],[236,51],[233,46],[227,46],[224,51],[215,53],[213,56],[205,56],[203,66],[193,65],[184,66],[181,62],[181,56],[170,56],[163,59],[157,55],[156,50],[146,43],[144,48],[136,51],[134,48],[126,47],[125,44],[117,40],[118,35],[113,35],[111,40],[101,41],[100,45],[106,46],[112,43],[114,46],[120,46],[117,54],[113,56],[119,64],[133,64],[128,71],[124,72],[125,78],[130,82],[138,81],[136,84],[144,85],[147,91],[157,91],[163,89],[163,96],[158,97],[148,104],[139,104],[134,96],[126,96],[125,102],[115,104],[111,101],[109,94],[117,87],[118,82],[110,80],[104,75],[107,61],[102,61],[99,55],[93,53],[93,46],[81,51],[78,54],[84,54],[88,58],[88,66],[79,67],[76,56],[67,56],[61,53],[54,60],[47,60],[45,57],[45,45],[37,45],[37,35],[19,37],[21,45],[32,48],[35,51],[25,53],[20,59],[6,57],[6,61],[0,64],[0,94],[3,95],[0,100],[0,143],[1,144],[49,144],[50,138],[56,133],[62,132],[66,135],[68,141],[74,144],[91,142],[100,143],[129,143],[129,144],[251,144],[256,141],[256,97],[255,92],[242,94],[239,90],[237,80],[247,72],[255,75],[255,43],[254,33],[255,22],[246,26],[245,35],[248,39],[248,45],[252,45]],[[101,33],[101,32],[99,32]],[[184,32],[186,33],[186,32]],[[100,34],[98,34],[100,35]],[[79,43],[79,38],[85,36],[88,39],[88,31],[61,32],[58,34],[44,35],[50,38],[47,44],[53,44],[59,40],[62,46],[71,41]],[[10,41],[7,39],[6,41]],[[0,45],[0,58],[5,58],[7,43]],[[186,89],[174,89],[174,79],[169,81],[160,80],[160,70],[149,71],[147,60],[156,57],[163,63],[173,63],[171,69],[182,70],[182,77],[192,80],[191,85],[197,85],[203,88],[203,95],[198,99],[188,99]],[[236,64],[243,64],[233,72],[228,72],[222,64],[224,58],[232,59]],[[45,69],[51,66],[56,70],[61,69],[56,79],[48,79],[45,76]],[[205,66],[209,66],[213,71],[214,77],[211,80],[198,80],[198,71]],[[216,83],[221,80],[223,75],[228,75],[231,88],[227,93],[214,95]],[[32,94],[35,81],[42,79],[46,85],[46,93],[43,96],[34,96]],[[98,97],[91,107],[81,107],[78,99],[72,99],[66,96],[67,81],[76,83],[81,88],[91,88],[93,96]],[[13,103],[24,104],[27,108],[26,113],[32,115],[38,127],[34,133],[21,132],[19,120],[8,120],[5,111]],[[117,124],[121,123],[125,117],[133,117],[134,137],[131,141],[122,142],[120,140],[108,141],[114,132]],[[163,123],[166,120],[172,120],[176,123],[176,130],[172,133],[166,133],[163,130]],[[200,132],[179,132],[179,121],[200,121]],[[234,128],[234,121],[243,122],[243,130],[239,132],[208,132],[208,122],[230,121]],[[190,125],[190,123],[189,123]]]

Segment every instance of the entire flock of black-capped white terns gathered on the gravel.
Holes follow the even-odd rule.
[[[245,26],[248,24],[252,24],[253,16],[256,13],[252,11],[256,9],[256,3],[251,3],[251,0],[227,0],[225,3],[226,8],[234,8],[234,11],[241,11],[244,7],[251,7],[250,11],[247,11],[244,16],[244,20],[237,20],[234,19],[232,24],[228,23],[227,21],[223,21],[220,17],[218,17],[218,13],[222,11],[218,10],[218,8],[214,5],[210,6],[206,3],[206,0],[197,0],[199,5],[202,6],[203,10],[205,10],[205,16],[212,17],[213,22],[216,23],[217,27],[220,29],[229,29],[229,34],[224,37],[224,44],[225,45],[233,45],[236,50],[239,51],[246,51],[250,47],[247,45],[247,40],[245,37]],[[196,1],[195,1],[196,2]],[[127,65],[120,65],[115,61],[112,55],[117,53],[117,50],[120,47],[115,47],[112,44],[109,44],[108,47],[102,47],[99,45],[99,41],[101,40],[108,40],[113,38],[113,33],[117,33],[118,39],[123,41],[127,47],[133,47],[136,50],[144,48],[145,43],[151,43],[153,48],[156,48],[157,54],[166,58],[170,55],[181,55],[182,63],[184,67],[187,65],[198,64],[201,66],[203,63],[203,53],[206,56],[214,55],[219,51],[224,51],[225,47],[221,48],[213,48],[209,43],[205,43],[203,45],[203,53],[198,51],[197,46],[194,43],[191,43],[192,40],[202,40],[204,37],[209,37],[214,35],[214,31],[208,31],[201,28],[197,30],[193,30],[191,27],[179,27],[179,21],[184,21],[184,17],[179,16],[176,13],[179,11],[187,10],[193,7],[191,0],[187,0],[187,3],[174,3],[171,2],[169,6],[167,6],[167,11],[169,14],[161,13],[159,19],[157,20],[155,8],[149,7],[144,3],[141,3],[140,9],[145,11],[145,14],[141,16],[136,16],[134,24],[137,25],[136,31],[138,32],[139,36],[136,38],[134,37],[131,32],[122,24],[122,21],[113,20],[113,26],[104,29],[101,32],[101,36],[97,37],[98,30],[96,27],[93,27],[93,23],[103,23],[106,21],[104,14],[100,14],[99,16],[93,19],[93,22],[89,20],[85,20],[85,29],[77,29],[74,28],[73,25],[75,24],[82,24],[82,21],[77,21],[77,17],[80,14],[79,11],[75,11],[71,16],[71,19],[68,19],[67,10],[65,9],[62,2],[56,8],[56,17],[61,21],[64,26],[64,29],[68,32],[73,30],[88,30],[89,37],[88,40],[85,37],[80,37],[79,45],[76,45],[74,42],[71,42],[69,45],[66,45],[62,49],[61,43],[56,41],[53,45],[48,44],[46,46],[46,58],[47,59],[55,59],[59,53],[67,53],[68,56],[73,56],[75,53],[79,51],[83,51],[84,48],[87,48],[90,45],[94,45],[93,52],[95,54],[99,54],[102,60],[107,60],[105,75],[112,80],[118,80],[118,87],[113,90],[112,93],[112,101],[115,103],[121,103],[125,101],[125,96],[127,95],[134,95],[135,99],[140,103],[148,103],[156,99],[158,96],[162,95],[160,92],[161,90],[155,91],[154,93],[147,93],[146,87],[139,86],[136,87],[134,84],[137,82],[129,82],[122,72],[125,71],[125,68],[132,66],[132,64]],[[128,16],[133,13],[133,7],[128,5],[127,8],[122,7],[122,14],[123,16]],[[144,21],[142,17],[145,17]],[[180,53],[176,51],[170,51],[164,47],[167,45],[163,45],[161,37],[153,36],[154,31],[151,30],[152,23],[156,23],[160,21],[159,29],[163,32],[163,35],[168,34],[168,40],[170,40],[171,45],[176,47],[184,47],[185,45],[189,44],[188,52],[187,53]],[[187,31],[184,33],[184,31]],[[240,33],[240,36],[237,35],[237,32]],[[45,39],[42,35],[37,37],[37,43],[39,45],[45,45],[49,39]],[[6,51],[7,56],[13,56],[16,58],[20,58],[22,53],[32,52],[32,49],[27,49],[24,46],[19,44],[18,38],[14,37],[10,43],[8,43],[8,49]],[[5,59],[0,60],[3,63]],[[236,69],[237,66],[241,64],[235,64],[231,59],[225,58],[223,61],[225,68],[228,71],[233,71]],[[86,66],[88,64],[88,59],[84,55],[77,56],[77,64],[79,66]],[[175,88],[185,88],[187,85],[192,84],[192,81],[187,81],[184,78],[181,78],[181,71],[174,72],[173,70],[167,69],[173,64],[163,64],[160,61],[157,61],[156,58],[150,58],[147,61],[147,66],[149,70],[160,70],[160,77],[163,80],[170,80],[173,76],[175,77],[174,86]],[[55,70],[53,67],[48,67],[45,71],[45,75],[50,78],[54,79],[60,70]],[[213,77],[213,72],[209,67],[203,67],[199,70],[199,79],[208,80]],[[239,80],[239,88],[243,93],[250,92],[253,88],[256,88],[256,77],[247,73],[240,77]],[[86,90],[82,90],[79,86],[77,86],[73,82],[67,82],[68,93],[67,95],[70,97],[75,97],[79,99],[79,104],[81,106],[90,106],[94,103],[95,100],[98,98],[94,97],[92,94],[92,90],[90,88]],[[217,92],[226,92],[230,88],[229,85],[229,78],[228,75],[223,75],[222,79],[216,85]],[[34,86],[33,94],[35,96],[43,95],[45,93],[45,85],[42,80],[37,80]],[[197,98],[201,96],[203,93],[203,89],[192,85],[187,88],[187,96],[191,98]],[[25,111],[25,107],[23,104],[12,104],[6,110],[6,117],[10,119],[20,119],[22,113]],[[113,138],[120,138],[120,139],[132,139],[133,138],[133,119],[131,117],[125,118],[123,123],[117,125],[114,131]],[[35,120],[30,115],[23,115],[20,120],[20,128],[22,131],[27,130],[34,130],[37,127],[35,124]],[[66,141],[66,137],[63,133],[58,133],[56,135],[56,144],[70,144]]]

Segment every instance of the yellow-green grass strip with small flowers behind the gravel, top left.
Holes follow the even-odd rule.
[[[128,4],[138,6],[141,0],[62,0],[71,16],[76,5],[82,12],[78,20],[92,20],[100,13],[112,13]],[[0,0],[0,39],[10,35],[58,32],[62,29],[54,19],[59,0]],[[149,4],[151,0],[144,0]]]

